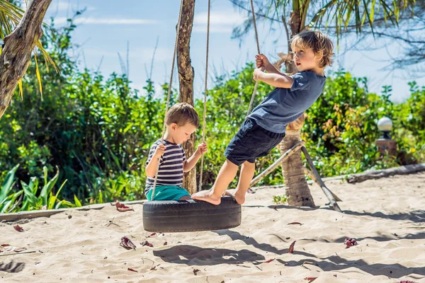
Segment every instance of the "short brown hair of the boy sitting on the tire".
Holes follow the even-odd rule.
[[[165,123],[166,125],[176,123],[179,126],[191,123],[191,125],[199,127],[198,112],[189,103],[176,103],[166,112]]]

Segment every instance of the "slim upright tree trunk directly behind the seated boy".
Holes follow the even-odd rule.
[[[179,69],[180,96],[179,102],[193,105],[193,67],[191,66],[191,33],[193,26],[193,14],[195,12],[195,0],[184,0],[181,12],[179,45],[177,46],[177,66]],[[186,157],[189,158],[195,152],[196,135],[183,144]],[[189,193],[196,192],[196,168],[184,173],[183,187]]]

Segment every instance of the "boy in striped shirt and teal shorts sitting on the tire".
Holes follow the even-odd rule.
[[[159,161],[154,200],[190,200],[191,195],[181,187],[183,172],[191,171],[200,156],[207,152],[207,144],[205,142],[200,144],[187,160],[181,144],[190,139],[191,134],[198,129],[198,113],[188,103],[177,103],[166,112],[165,123],[164,144],[161,143],[161,139],[155,141],[147,157],[145,195],[147,200],[152,200]]]

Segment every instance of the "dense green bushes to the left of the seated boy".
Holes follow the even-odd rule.
[[[30,175],[42,175],[44,166],[57,166],[57,180],[68,180],[60,197],[74,202],[75,195],[81,204],[142,198],[145,171],[140,164],[160,135],[163,98],[154,98],[151,81],[141,97],[125,76],[105,79],[79,71],[68,55],[75,25],[51,26],[43,40],[61,74],[40,71],[45,91],[40,100],[36,71],[28,69],[23,100],[15,96],[0,120],[1,171],[19,162],[18,180],[28,183]]]

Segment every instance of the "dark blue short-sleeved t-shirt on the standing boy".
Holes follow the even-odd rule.
[[[292,76],[290,88],[275,88],[248,116],[270,132],[284,133],[290,122],[297,120],[319,98],[325,76],[302,71]]]

